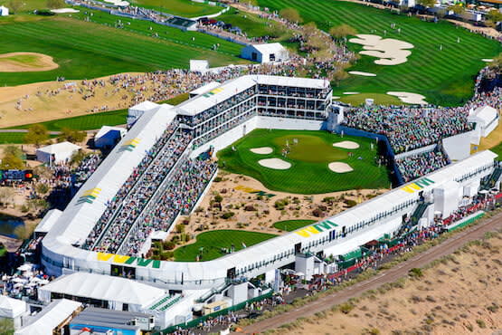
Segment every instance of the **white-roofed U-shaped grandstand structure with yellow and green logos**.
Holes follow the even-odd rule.
[[[175,190],[183,184],[187,168],[203,164],[199,162],[207,158],[208,150],[224,148],[252,129],[333,130],[331,96],[328,81],[248,75],[176,107],[154,106],[137,114],[128,134],[43,238],[46,271],[124,276],[176,292],[176,303],[166,293],[145,307],[165,312],[185,306],[169,318],[164,314],[161,326],[166,326],[175,323],[177,314],[186,315],[195,300],[208,302],[212,296],[208,292],[223,292],[260,274],[265,274],[266,282],[277,281],[277,269],[291,263],[308,277],[336,271],[335,264],[322,261],[323,254],[346,254],[393,235],[405,217],[417,216],[418,226],[431,225],[438,213],[446,217],[469,205],[484,179],[500,177],[497,155],[483,151],[317,224],[213,261],[144,258],[149,236],[158,227],[169,231],[177,215],[189,213],[216,172],[214,165],[204,166],[202,187],[190,194],[194,201],[178,206],[181,200]],[[158,207],[173,198],[173,207],[159,221]],[[127,211],[131,202],[136,206]],[[244,296],[247,299],[247,293]]]

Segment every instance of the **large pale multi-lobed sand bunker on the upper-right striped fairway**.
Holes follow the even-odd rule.
[[[374,61],[379,65],[398,65],[403,62],[408,62],[408,56],[412,54],[411,51],[413,44],[393,38],[385,38],[372,34],[358,34],[358,38],[351,38],[348,40],[350,43],[361,44],[363,51],[360,54],[367,56],[377,57],[378,60]]]

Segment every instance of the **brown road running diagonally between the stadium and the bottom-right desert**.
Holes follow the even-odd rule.
[[[485,233],[492,232],[502,228],[502,213],[499,213],[478,225],[475,225],[457,235],[453,235],[442,244],[431,247],[428,251],[418,254],[412,259],[400,263],[399,265],[387,270],[383,273],[366,280],[359,282],[344,291],[330,294],[326,297],[320,298],[315,302],[310,302],[295,310],[288,311],[276,317],[251,324],[243,329],[244,333],[253,334],[265,330],[278,328],[280,325],[297,320],[300,317],[311,316],[318,311],[325,311],[331,306],[346,302],[350,298],[354,298],[368,290],[374,290],[386,282],[395,282],[399,278],[406,275],[412,268],[420,268],[431,263],[432,261],[451,254],[462,245],[472,240],[481,238]]]

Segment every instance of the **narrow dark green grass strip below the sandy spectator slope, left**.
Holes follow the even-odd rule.
[[[75,130],[93,130],[102,126],[117,126],[126,124],[128,110],[111,110],[89,115],[81,115],[67,119],[40,122],[49,131],[60,131],[63,128]],[[29,129],[32,124],[14,126],[8,129]],[[0,133],[5,134],[5,133]]]

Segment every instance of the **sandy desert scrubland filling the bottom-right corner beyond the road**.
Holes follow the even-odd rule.
[[[368,292],[348,313],[302,322],[288,334],[498,334],[502,328],[502,239],[447,256],[418,279]]]

